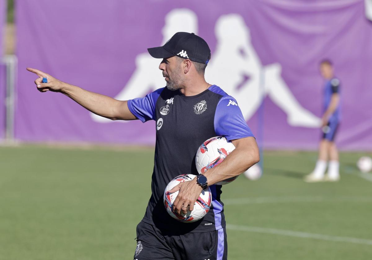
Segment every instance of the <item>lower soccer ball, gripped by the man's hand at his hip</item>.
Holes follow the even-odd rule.
[[[212,192],[211,189],[206,188],[205,190],[202,190],[199,198],[196,200],[194,204],[194,209],[192,211],[187,210],[187,213],[185,215],[177,214],[176,211],[173,210],[173,202],[176,199],[178,195],[178,191],[170,193],[169,191],[173,189],[176,185],[178,185],[181,182],[191,181],[196,177],[196,175],[193,174],[183,174],[180,176],[177,176],[172,181],[170,181],[165,188],[164,191],[164,206],[167,209],[168,214],[175,218],[178,221],[181,222],[195,222],[198,220],[201,220],[205,214],[208,213],[209,208],[211,207],[212,203]]]

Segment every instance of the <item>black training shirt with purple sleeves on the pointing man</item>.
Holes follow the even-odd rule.
[[[225,227],[221,185],[209,186],[211,209],[202,220],[192,223],[170,217],[164,207],[163,193],[176,176],[198,175],[195,154],[205,140],[214,136],[224,136],[228,141],[253,136],[237,101],[216,85],[194,96],[160,88],[144,98],[129,100],[128,108],[143,123],[156,122],[152,194],[142,221],[161,230],[180,233],[209,232]]]

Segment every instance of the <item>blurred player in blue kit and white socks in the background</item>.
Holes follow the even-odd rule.
[[[340,81],[334,77],[331,61],[323,60],[320,63],[320,73],[325,79],[323,136],[320,141],[317,164],[314,171],[305,176],[306,182],[338,181],[340,179],[339,152],[334,142],[340,122]],[[328,172],[327,175],[324,175],[328,160]]]

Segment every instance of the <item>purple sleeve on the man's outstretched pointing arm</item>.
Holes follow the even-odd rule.
[[[140,119],[142,123],[155,118],[155,105],[161,91],[164,88],[159,88],[143,98],[134,98],[128,100],[128,108],[131,113]]]

